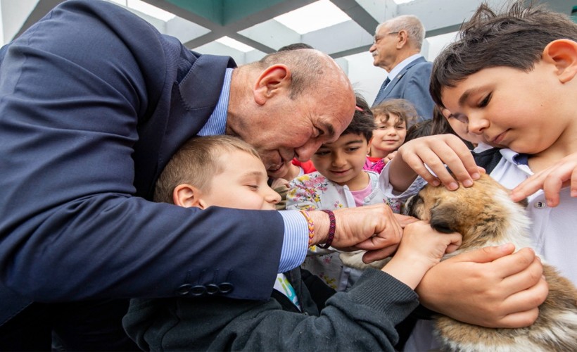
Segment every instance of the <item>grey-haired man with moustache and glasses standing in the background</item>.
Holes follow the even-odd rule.
[[[376,27],[369,51],[373,65],[383,68],[388,75],[373,106],[387,99],[407,99],[421,120],[433,117],[433,99],[429,94],[433,64],[419,54],[424,37],[423,24],[414,15],[401,15]]]

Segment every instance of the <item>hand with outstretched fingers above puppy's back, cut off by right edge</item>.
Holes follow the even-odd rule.
[[[577,197],[577,153],[569,154],[549,168],[535,173],[511,191],[513,201],[521,201],[539,189],[545,191],[547,206],[559,205],[559,192],[571,186],[571,196]]]

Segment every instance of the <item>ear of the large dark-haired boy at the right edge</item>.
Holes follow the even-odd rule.
[[[562,83],[569,82],[577,74],[577,42],[557,39],[543,49],[543,60],[553,63]]]

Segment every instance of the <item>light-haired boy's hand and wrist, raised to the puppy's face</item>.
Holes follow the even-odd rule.
[[[461,234],[456,232],[445,234],[433,230],[427,222],[413,222],[405,227],[397,253],[383,271],[414,289],[427,270],[445,253],[459,248],[461,241]]]

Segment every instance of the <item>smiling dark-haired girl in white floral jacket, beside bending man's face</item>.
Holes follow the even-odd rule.
[[[367,103],[357,97],[355,115],[341,137],[336,142],[322,144],[312,156],[317,171],[290,182],[286,208],[334,210],[387,203],[395,213],[399,213],[401,200],[389,201],[378,187],[379,174],[364,169],[374,128],[374,118]],[[353,285],[362,270],[343,264],[342,259],[355,262],[357,258],[350,257],[362,256],[363,253],[347,252],[339,256],[335,249],[312,246],[302,268],[321,277],[337,291],[343,291]],[[383,264],[376,265],[382,267]]]

